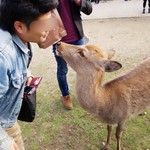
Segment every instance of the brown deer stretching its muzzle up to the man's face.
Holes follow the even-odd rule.
[[[114,50],[102,51],[94,45],[57,44],[58,55],[76,72],[76,98],[83,109],[107,124],[108,150],[112,127],[116,126],[117,150],[126,121],[150,107],[150,58],[130,71],[102,83],[105,72],[122,68],[111,60]]]

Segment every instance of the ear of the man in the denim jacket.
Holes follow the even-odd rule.
[[[27,31],[26,25],[24,23],[22,23],[21,21],[15,21],[14,28],[15,28],[16,32],[19,34],[22,34]]]

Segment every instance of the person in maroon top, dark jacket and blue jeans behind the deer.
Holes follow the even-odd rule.
[[[92,13],[91,2],[89,0],[59,0],[57,10],[67,32],[61,41],[74,45],[85,44],[81,12],[90,15]],[[65,60],[57,56],[56,50],[57,45],[54,44],[53,52],[57,62],[57,80],[62,94],[61,100],[64,108],[70,110],[73,105],[67,83],[68,67]]]

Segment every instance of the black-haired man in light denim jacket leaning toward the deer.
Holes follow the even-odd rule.
[[[31,53],[49,33],[57,0],[0,1],[0,150],[24,150],[17,123]]]

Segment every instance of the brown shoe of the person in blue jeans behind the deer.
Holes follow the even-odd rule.
[[[67,110],[71,110],[73,108],[72,106],[72,101],[70,99],[70,96],[67,95],[67,96],[62,96],[62,103],[63,103],[63,106],[65,109]]]

